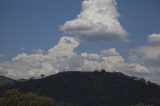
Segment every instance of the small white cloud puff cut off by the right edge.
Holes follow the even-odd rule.
[[[150,43],[160,43],[160,34],[151,34],[147,40]]]

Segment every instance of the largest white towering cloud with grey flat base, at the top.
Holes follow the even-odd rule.
[[[126,41],[128,34],[118,17],[115,0],[84,0],[77,18],[65,22],[60,30],[87,41]]]

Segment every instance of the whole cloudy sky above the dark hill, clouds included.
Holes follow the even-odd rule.
[[[106,69],[160,83],[159,0],[0,0],[0,75]]]

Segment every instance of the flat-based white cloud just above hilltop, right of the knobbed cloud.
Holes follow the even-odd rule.
[[[104,51],[105,53],[109,53],[109,55],[104,55]],[[115,48],[102,50],[97,54],[82,53],[81,56],[84,58],[84,62],[81,66],[82,70],[106,69],[107,71],[117,71],[118,68],[124,66],[125,62],[122,56],[115,54],[118,54]]]

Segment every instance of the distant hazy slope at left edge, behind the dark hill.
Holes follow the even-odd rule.
[[[0,86],[6,86],[6,85],[9,85],[9,84],[13,84],[15,82],[16,81],[13,80],[13,79],[7,78],[5,76],[0,76]]]

